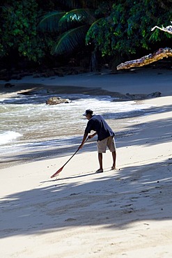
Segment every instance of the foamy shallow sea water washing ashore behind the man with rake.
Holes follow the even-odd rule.
[[[54,96],[54,95],[53,95]],[[116,138],[137,130],[141,116],[150,112],[151,105],[142,102],[114,102],[111,96],[63,94],[71,103],[46,105],[46,94],[0,99],[0,168],[14,161],[67,155],[81,143],[87,120],[86,109],[102,114],[116,133]],[[95,139],[91,149],[96,149]],[[94,142],[94,144],[93,144]]]

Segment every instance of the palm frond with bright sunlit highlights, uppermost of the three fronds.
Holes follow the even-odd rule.
[[[75,9],[65,13],[59,20],[59,28],[61,31],[67,31],[81,24],[92,24],[95,22],[95,13],[90,9]]]

